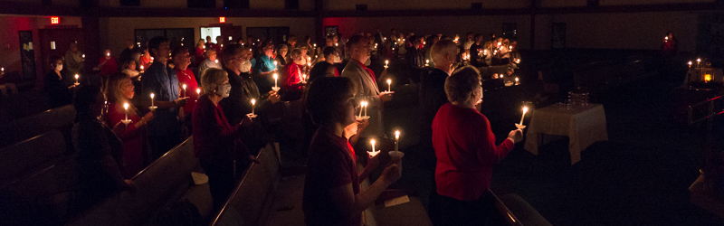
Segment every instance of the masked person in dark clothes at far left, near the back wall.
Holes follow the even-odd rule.
[[[66,84],[62,79],[61,56],[53,55],[49,59],[51,71],[43,79],[43,92],[50,99],[51,108],[58,108],[73,102],[71,90],[75,85]]]

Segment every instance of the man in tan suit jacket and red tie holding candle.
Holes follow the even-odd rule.
[[[350,61],[342,71],[342,77],[349,78],[357,91],[355,98],[358,101],[369,103],[369,127],[360,134],[360,137],[380,137],[383,132],[382,106],[385,102],[392,100],[392,93],[380,93],[377,88],[375,72],[368,69],[364,61],[369,59],[369,45],[367,38],[362,35],[355,35],[348,41]],[[382,72],[379,80],[386,80],[386,71]]]

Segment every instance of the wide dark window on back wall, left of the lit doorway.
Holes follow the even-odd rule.
[[[195,47],[193,28],[136,29],[135,34],[136,43],[140,42],[140,47],[142,49],[148,48],[148,40],[157,36],[166,37],[171,45],[171,49],[183,46],[193,50]]]

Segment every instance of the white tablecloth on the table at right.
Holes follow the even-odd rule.
[[[542,134],[567,136],[571,164],[581,160],[581,151],[596,141],[608,140],[605,128],[604,106],[589,104],[566,109],[556,105],[533,111],[530,125],[527,127],[525,149],[538,155],[538,146],[542,146]]]

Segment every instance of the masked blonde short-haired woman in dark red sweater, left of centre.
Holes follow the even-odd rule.
[[[243,124],[250,123],[251,119],[244,118],[241,123],[230,124],[219,104],[222,99],[230,97],[232,85],[229,84],[228,73],[218,69],[206,70],[201,76],[201,85],[205,88],[204,95],[198,99],[192,119],[194,154],[209,177],[215,210],[224,205],[233,191],[234,164],[237,169],[245,169],[251,162],[260,162],[250,155],[241,139]]]

